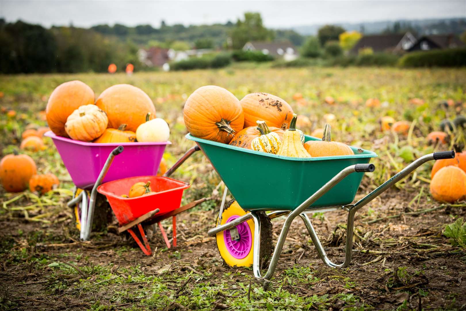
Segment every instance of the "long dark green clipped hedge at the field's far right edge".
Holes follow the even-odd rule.
[[[411,52],[398,62],[401,67],[461,67],[466,66],[466,48]]]

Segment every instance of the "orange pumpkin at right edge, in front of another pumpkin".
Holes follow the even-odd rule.
[[[460,200],[466,196],[466,173],[458,166],[444,166],[432,178],[430,191],[438,201]]]

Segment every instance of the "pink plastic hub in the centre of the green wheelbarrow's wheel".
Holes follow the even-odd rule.
[[[235,220],[240,216],[233,215],[226,222]],[[225,230],[223,232],[223,239],[225,240],[226,249],[228,252],[235,257],[236,259],[243,259],[251,251],[253,245],[253,236],[251,234],[251,228],[247,222],[241,222],[239,225],[236,225],[238,229],[238,234],[240,238],[238,240],[232,240],[230,235],[230,230]]]

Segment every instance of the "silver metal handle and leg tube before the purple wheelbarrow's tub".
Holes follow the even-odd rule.
[[[83,241],[87,241],[92,230],[92,218],[94,216],[94,207],[96,205],[96,196],[97,196],[97,187],[102,183],[103,178],[109,171],[110,165],[112,164],[113,158],[123,152],[123,146],[118,146],[110,152],[105,164],[103,165],[102,170],[100,171],[99,176],[97,177],[96,183],[90,192],[89,204],[86,191],[82,191],[77,197],[73,200],[70,200],[67,205],[73,207],[80,200],[82,201],[81,206],[81,233],[80,237]]]

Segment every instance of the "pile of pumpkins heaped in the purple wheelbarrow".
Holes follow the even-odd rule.
[[[130,84],[113,85],[95,100],[87,84],[62,83],[48,99],[46,117],[55,135],[86,142],[162,142],[170,136],[151,98]]]

